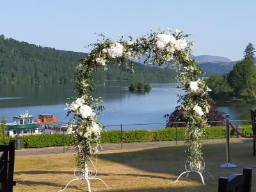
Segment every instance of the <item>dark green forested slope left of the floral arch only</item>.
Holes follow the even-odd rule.
[[[0,83],[68,82],[83,52],[60,51],[0,36]]]

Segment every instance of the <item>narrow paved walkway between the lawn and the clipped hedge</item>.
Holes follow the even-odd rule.
[[[225,143],[225,139],[202,140],[203,144]],[[230,142],[242,142],[242,139],[230,139]],[[140,143],[123,143],[123,148],[150,148],[150,147],[168,147],[175,145],[184,145],[184,141],[152,141]],[[121,143],[102,144],[102,150],[120,149]],[[16,156],[40,155],[40,154],[60,154],[65,152],[75,152],[74,147],[47,147],[47,148],[25,148],[15,150]]]

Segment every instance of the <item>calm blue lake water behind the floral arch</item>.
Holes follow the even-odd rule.
[[[157,129],[163,128],[166,113],[172,113],[177,106],[177,83],[152,83],[149,93],[131,93],[128,82],[97,84],[95,96],[102,97],[108,110],[99,116],[107,129]],[[65,103],[74,97],[74,84],[0,84],[0,116],[12,117],[28,110],[36,118],[39,113],[52,113],[61,122],[68,122]],[[256,105],[239,105],[225,102],[218,107],[230,115],[232,120],[250,119],[250,109]],[[152,125],[127,125],[152,124]],[[108,125],[115,125],[108,127]]]

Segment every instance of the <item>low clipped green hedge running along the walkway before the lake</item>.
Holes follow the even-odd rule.
[[[176,131],[177,130],[177,131]],[[243,125],[240,132],[246,135],[252,135],[252,125]],[[177,134],[177,135],[176,135]],[[223,126],[207,127],[205,129],[204,138],[214,139],[225,138],[226,129]],[[231,131],[230,136],[237,136],[236,132]],[[129,130],[122,132],[122,140],[124,143],[143,142],[143,141],[175,141],[185,139],[184,127],[170,127],[166,129],[156,129],[152,131],[145,130]],[[13,138],[11,138],[13,140]],[[120,143],[121,131],[104,131],[101,134],[102,143]],[[40,148],[40,147],[56,147],[69,145],[72,143],[72,136],[68,134],[31,134],[20,137],[20,146],[22,148]]]

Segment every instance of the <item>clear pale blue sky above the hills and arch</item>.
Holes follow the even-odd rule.
[[[192,33],[194,54],[243,58],[249,42],[256,47],[256,1],[65,1],[3,0],[0,34],[31,44],[88,51],[94,33],[145,35],[150,29]]]

